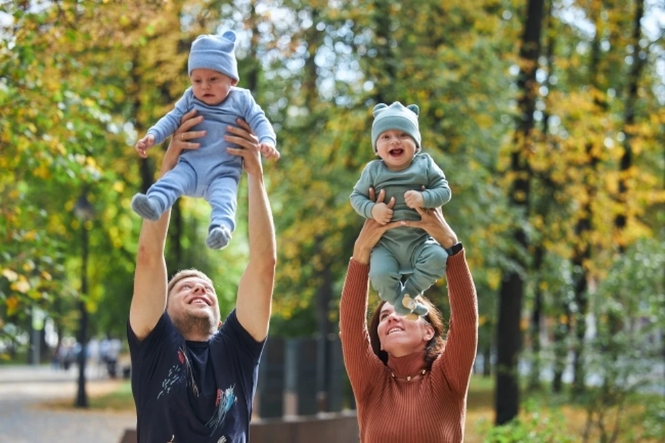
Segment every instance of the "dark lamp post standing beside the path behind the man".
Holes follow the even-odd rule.
[[[77,408],[88,407],[88,397],[85,392],[85,357],[87,349],[86,330],[88,327],[88,311],[85,308],[85,295],[88,292],[88,229],[85,227],[89,220],[94,218],[94,209],[87,198],[87,191],[83,189],[81,196],[76,202],[74,207],[74,216],[78,218],[81,223],[81,297],[78,302],[78,309],[80,313],[78,337],[77,340],[81,345],[80,353],[78,354],[78,394],[76,394],[76,403],[74,406]]]

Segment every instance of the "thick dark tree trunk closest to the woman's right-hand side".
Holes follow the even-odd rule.
[[[526,15],[526,26],[522,36],[520,58],[522,67],[517,86],[520,90],[519,107],[522,119],[518,122],[515,133],[515,146],[511,158],[512,172],[515,182],[511,187],[511,205],[524,218],[529,214],[529,186],[531,171],[528,163],[530,141],[533,135],[533,112],[538,87],[535,71],[540,56],[540,34],[542,31],[542,12],[544,0],[529,0]],[[524,254],[528,249],[526,232],[517,223],[514,231],[515,247],[520,248],[512,254],[520,268],[525,269]],[[497,323],[497,383],[495,394],[496,424],[501,425],[517,417],[520,406],[519,374],[517,373],[518,358],[522,345],[520,320],[522,299],[524,297],[524,280],[517,270],[510,270],[504,275],[499,292],[499,320]]]

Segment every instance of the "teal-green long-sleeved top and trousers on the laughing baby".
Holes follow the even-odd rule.
[[[422,191],[422,186],[425,190]],[[406,191],[423,193],[425,208],[436,208],[450,201],[451,191],[441,168],[427,154],[419,153],[408,168],[391,171],[382,159],[369,162],[351,193],[351,205],[358,214],[372,218],[375,202],[369,200],[369,188],[376,195],[384,190],[385,200],[395,198],[391,221],[420,220],[416,209],[407,206]],[[404,295],[416,297],[445,274],[448,254],[423,229],[400,226],[388,229],[371,254],[369,278],[379,296],[392,304],[401,315],[411,312],[402,305]],[[402,275],[408,275],[402,285]],[[420,307],[423,309],[423,306]],[[418,315],[423,312],[415,311]]]

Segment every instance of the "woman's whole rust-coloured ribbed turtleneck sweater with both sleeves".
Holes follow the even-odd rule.
[[[367,332],[369,266],[348,265],[339,329],[353,387],[362,443],[459,443],[464,439],[466,396],[478,340],[478,300],[464,251],[446,265],[450,322],[443,353],[424,376],[424,354],[374,354]],[[395,374],[395,377],[391,375]]]

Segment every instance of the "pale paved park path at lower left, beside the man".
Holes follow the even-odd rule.
[[[110,392],[119,383],[87,372],[87,392]],[[0,366],[0,443],[118,443],[136,426],[134,412],[49,408],[49,401],[76,397],[78,368]],[[46,406],[45,406],[46,403]]]

